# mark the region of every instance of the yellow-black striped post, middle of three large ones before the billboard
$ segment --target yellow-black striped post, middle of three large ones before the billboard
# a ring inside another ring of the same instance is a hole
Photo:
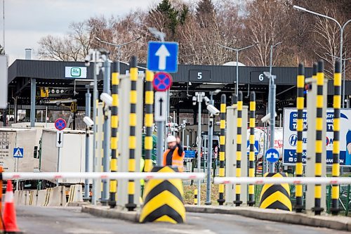
[[[315,65],[313,65],[313,70]],[[317,69],[317,115],[316,115],[316,159],[314,164],[314,176],[322,176],[322,151],[323,143],[322,131],[323,131],[323,86],[324,86],[324,64],[323,61],[319,61]],[[322,198],[322,186],[320,184],[314,185],[314,207],[312,211],[314,214],[319,215],[323,212],[321,207]]]

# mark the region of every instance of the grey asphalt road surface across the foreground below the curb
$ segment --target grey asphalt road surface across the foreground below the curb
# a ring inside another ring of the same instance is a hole
[[[131,223],[118,219],[104,219],[81,213],[79,207],[18,207],[18,226],[27,234],[324,234],[347,233],[327,228],[313,228],[271,221],[261,221],[231,214],[187,213],[186,224]]]

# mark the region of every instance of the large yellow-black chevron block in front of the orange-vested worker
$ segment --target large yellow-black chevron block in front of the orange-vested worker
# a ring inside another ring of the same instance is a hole
[[[154,167],[152,172],[174,172],[173,167]],[[183,183],[180,179],[150,179],[145,186],[145,199],[140,223],[184,223]]]

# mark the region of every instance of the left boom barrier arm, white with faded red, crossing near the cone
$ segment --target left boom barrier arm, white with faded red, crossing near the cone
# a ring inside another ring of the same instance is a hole
[[[90,179],[168,179],[180,178],[182,180],[203,179],[204,173],[168,173],[168,172],[3,172],[4,180],[13,179],[46,179],[59,178],[90,178]]]

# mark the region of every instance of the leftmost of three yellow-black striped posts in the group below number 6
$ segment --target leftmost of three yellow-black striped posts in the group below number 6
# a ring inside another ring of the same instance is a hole
[[[219,176],[225,176],[225,113],[227,112],[227,103],[225,94],[220,96],[220,169]],[[219,185],[219,198],[218,203],[223,205],[225,202],[224,199],[224,184]]]

